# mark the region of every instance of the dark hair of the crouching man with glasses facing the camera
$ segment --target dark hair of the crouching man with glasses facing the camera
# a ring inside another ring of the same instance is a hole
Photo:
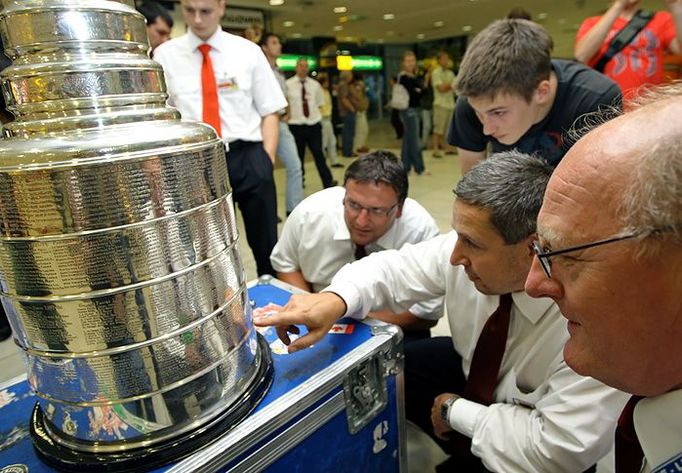
[[[375,184],[382,182],[391,186],[400,205],[407,198],[407,172],[398,157],[390,151],[377,150],[353,161],[343,176],[343,185],[350,179]]]

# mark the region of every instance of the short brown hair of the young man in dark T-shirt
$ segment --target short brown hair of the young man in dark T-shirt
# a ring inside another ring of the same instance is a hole
[[[547,31],[528,20],[497,20],[476,35],[462,58],[457,93],[493,99],[516,94],[530,102],[552,72],[554,44]]]

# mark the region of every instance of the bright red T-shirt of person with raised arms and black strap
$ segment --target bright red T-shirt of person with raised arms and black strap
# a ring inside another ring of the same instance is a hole
[[[576,40],[580,40],[601,17],[587,18],[580,25]],[[606,41],[597,54],[588,61],[594,67],[608,49],[611,39],[628,24],[626,18],[620,17],[611,26]],[[663,55],[675,39],[675,23],[669,12],[657,12],[637,36],[616,54],[604,68],[604,74],[618,83],[623,98],[635,95],[635,89],[643,84],[660,84],[663,82]]]

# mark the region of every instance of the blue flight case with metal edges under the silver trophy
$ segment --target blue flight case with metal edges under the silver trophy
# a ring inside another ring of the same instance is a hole
[[[284,305],[296,292],[269,277],[249,284],[256,310]],[[259,331],[274,365],[263,401],[233,429],[154,473],[407,471],[399,329],[341,319],[320,342],[293,354],[274,328]],[[0,385],[0,473],[56,471],[33,449],[35,402],[25,377]]]

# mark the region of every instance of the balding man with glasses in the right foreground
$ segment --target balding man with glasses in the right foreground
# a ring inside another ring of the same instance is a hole
[[[618,423],[617,473],[680,471],[682,83],[630,107],[557,167],[526,290],[568,319],[569,366],[635,395]]]

